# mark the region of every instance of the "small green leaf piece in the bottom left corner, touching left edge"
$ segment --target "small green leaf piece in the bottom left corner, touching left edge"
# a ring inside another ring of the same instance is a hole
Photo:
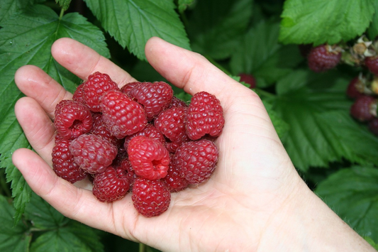
[[[28,226],[23,222],[13,225],[14,209],[0,195],[0,251],[2,252],[21,252],[28,251],[31,235]]]

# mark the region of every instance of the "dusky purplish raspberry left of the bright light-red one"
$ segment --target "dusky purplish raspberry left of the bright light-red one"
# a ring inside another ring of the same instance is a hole
[[[94,135],[75,138],[70,145],[70,151],[74,162],[92,174],[104,172],[117,155],[116,146]]]

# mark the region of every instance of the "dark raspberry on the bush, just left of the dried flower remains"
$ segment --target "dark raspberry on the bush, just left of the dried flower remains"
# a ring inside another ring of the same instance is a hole
[[[308,67],[313,70],[313,72],[326,72],[336,67],[340,59],[340,50],[330,45],[316,46],[312,48],[307,55]]]

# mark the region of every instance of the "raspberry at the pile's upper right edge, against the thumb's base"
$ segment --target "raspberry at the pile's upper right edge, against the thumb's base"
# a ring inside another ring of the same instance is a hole
[[[191,140],[197,140],[206,134],[221,135],[224,125],[221,102],[208,92],[194,94],[187,110],[185,124]]]

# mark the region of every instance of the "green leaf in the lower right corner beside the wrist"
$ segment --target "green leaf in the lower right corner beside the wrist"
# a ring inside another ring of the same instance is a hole
[[[378,169],[353,166],[339,170],[315,190],[362,236],[378,239]]]

